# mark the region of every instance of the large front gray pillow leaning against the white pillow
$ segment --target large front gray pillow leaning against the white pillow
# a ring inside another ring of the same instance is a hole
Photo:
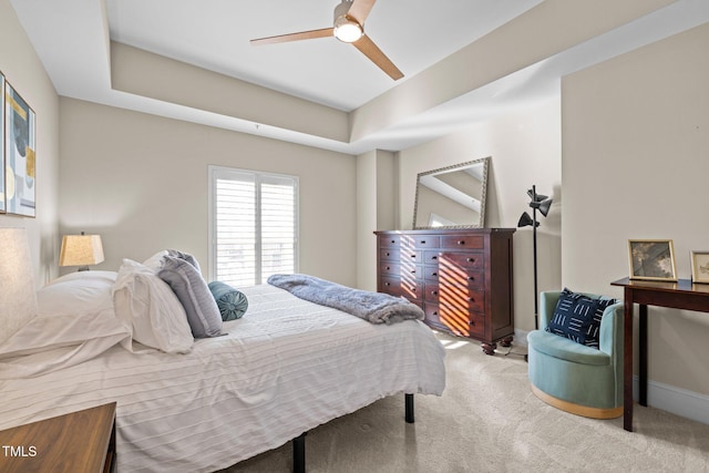
[[[157,276],[169,285],[187,313],[195,338],[222,335],[222,315],[197,268],[184,259],[165,256]]]

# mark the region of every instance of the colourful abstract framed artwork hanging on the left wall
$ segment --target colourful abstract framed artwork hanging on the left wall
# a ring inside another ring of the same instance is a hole
[[[37,216],[35,116],[32,107],[4,81],[4,210]]]

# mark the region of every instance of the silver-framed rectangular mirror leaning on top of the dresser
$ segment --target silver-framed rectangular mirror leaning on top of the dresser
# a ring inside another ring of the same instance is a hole
[[[470,228],[485,225],[490,157],[420,173],[413,228]]]

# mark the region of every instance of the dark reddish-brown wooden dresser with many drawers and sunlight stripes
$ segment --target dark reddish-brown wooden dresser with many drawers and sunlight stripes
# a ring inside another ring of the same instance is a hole
[[[514,335],[514,228],[374,232],[377,290],[403,296],[436,330],[482,342],[493,354]]]

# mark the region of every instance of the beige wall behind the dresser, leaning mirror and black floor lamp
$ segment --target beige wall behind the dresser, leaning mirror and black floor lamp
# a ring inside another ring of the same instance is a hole
[[[458,133],[399,152],[399,229],[413,224],[417,175],[424,171],[491,156],[486,227],[516,227],[536,184],[555,204],[540,217],[537,267],[540,290],[561,284],[561,104],[551,99],[534,106],[469,126]],[[534,329],[534,270],[531,227],[514,234],[515,329]],[[526,343],[525,340],[522,340]]]

